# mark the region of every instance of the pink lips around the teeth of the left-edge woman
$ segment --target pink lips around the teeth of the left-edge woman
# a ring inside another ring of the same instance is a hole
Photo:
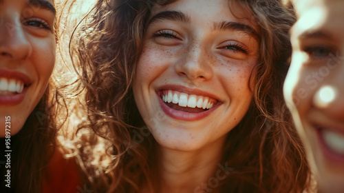
[[[7,69],[0,69],[0,78],[4,77],[7,79],[19,79],[23,81],[25,87],[23,92],[19,94],[8,94],[8,95],[1,95],[0,94],[0,105],[17,105],[23,101],[26,92],[28,91],[28,86],[31,84],[31,79],[28,75],[18,72],[15,70],[7,70]]]

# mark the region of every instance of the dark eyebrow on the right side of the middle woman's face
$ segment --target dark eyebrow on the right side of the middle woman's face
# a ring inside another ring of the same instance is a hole
[[[248,34],[250,37],[254,37],[259,40],[258,32],[252,27],[244,24],[233,21],[222,21],[220,23],[214,23],[213,30],[232,30],[240,31]]]

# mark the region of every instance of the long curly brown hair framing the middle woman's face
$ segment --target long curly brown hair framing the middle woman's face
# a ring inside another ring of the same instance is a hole
[[[131,86],[155,3],[171,1],[98,0],[70,43],[80,77],[76,86],[85,94],[87,111],[71,147],[85,180],[98,192],[139,192],[147,184],[153,192],[150,168],[155,140],[144,128]],[[244,119],[228,133],[222,156],[222,162],[235,170],[219,191],[309,190],[310,170],[282,94],[294,12],[277,0],[235,3],[252,16],[246,19],[257,24],[260,48],[257,72],[251,76],[254,100]]]

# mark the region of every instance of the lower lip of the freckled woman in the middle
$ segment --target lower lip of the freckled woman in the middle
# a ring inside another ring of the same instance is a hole
[[[171,116],[173,119],[179,119],[182,121],[197,121],[200,119],[204,119],[204,117],[208,116],[219,107],[219,103],[217,103],[217,105],[214,105],[213,108],[206,110],[204,112],[184,112],[182,110],[175,110],[173,108],[170,108],[168,105],[164,103],[164,101],[162,101],[161,97],[158,94],[157,96],[162,111],[164,111],[164,113],[166,113],[167,115]]]

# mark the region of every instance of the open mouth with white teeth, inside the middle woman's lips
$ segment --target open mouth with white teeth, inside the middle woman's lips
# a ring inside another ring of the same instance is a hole
[[[218,103],[216,99],[196,94],[186,94],[175,90],[164,90],[160,97],[169,108],[184,112],[204,112]]]

